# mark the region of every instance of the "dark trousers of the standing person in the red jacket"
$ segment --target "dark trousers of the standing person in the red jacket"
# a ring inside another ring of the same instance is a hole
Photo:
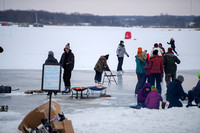
[[[160,85],[160,82],[162,81],[161,74],[152,74],[151,73],[151,75],[150,75],[151,85],[155,86],[155,81],[156,81],[156,88],[157,88],[158,92],[161,94],[161,91],[162,91],[162,88]]]

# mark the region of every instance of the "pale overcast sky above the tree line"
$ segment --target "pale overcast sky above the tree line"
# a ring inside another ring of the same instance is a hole
[[[8,9],[94,15],[200,16],[200,0],[0,0],[0,10]]]

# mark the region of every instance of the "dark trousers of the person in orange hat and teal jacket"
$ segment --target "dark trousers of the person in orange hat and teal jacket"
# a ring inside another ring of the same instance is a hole
[[[135,87],[135,94],[138,93],[138,91],[143,87],[145,82],[145,73],[136,73],[138,82]]]

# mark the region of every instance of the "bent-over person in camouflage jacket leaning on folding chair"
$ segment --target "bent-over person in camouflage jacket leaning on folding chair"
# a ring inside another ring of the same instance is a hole
[[[101,77],[102,77],[102,73],[104,70],[110,70],[107,64],[107,60],[109,58],[109,54],[105,55],[105,56],[101,56],[99,58],[99,60],[97,61],[94,70],[96,72],[95,74],[95,83],[101,84]]]

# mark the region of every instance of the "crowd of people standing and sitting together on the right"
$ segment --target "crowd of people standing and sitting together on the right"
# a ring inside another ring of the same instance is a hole
[[[141,47],[138,48],[137,55],[135,56],[138,79],[135,94],[137,95],[138,104],[135,108],[147,107],[158,109],[160,106],[164,108],[163,105],[165,104],[161,96],[161,82],[164,75],[167,87],[166,100],[169,103],[169,108],[182,107],[183,104],[179,99],[188,99],[187,107],[192,106],[193,100],[195,100],[196,105],[200,106],[200,81],[194,89],[186,94],[182,87],[184,77],[182,75],[176,77],[177,64],[180,64],[181,61],[173,53],[174,51],[178,55],[175,51],[174,42],[173,38],[170,40],[170,43],[167,42],[171,44],[167,52],[165,52],[161,43],[155,43],[150,54],[147,54],[147,50],[143,52]],[[200,73],[198,74],[199,76]]]

